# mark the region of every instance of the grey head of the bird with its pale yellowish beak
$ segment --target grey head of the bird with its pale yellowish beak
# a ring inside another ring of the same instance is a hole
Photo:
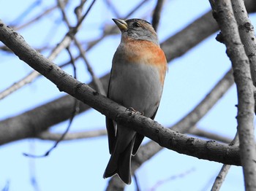
[[[132,39],[146,40],[159,45],[157,33],[148,21],[138,18],[128,20],[113,19],[113,21],[120,29],[122,37],[127,36]]]

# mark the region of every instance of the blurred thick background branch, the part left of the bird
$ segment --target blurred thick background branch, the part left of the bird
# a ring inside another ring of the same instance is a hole
[[[101,78],[102,83],[107,90],[109,74]],[[94,88],[93,83],[89,84]],[[35,109],[18,114],[0,122],[0,145],[7,144],[10,141],[27,139],[35,137],[44,130],[48,130],[50,126],[58,124],[71,117],[70,111],[74,105],[74,98],[71,95],[66,95],[48,104],[37,106]],[[90,106],[80,102],[80,112],[91,109]],[[32,120],[31,120],[32,119]]]

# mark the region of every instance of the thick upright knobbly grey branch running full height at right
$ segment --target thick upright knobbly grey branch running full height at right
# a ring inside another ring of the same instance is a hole
[[[255,100],[249,59],[239,36],[231,1],[215,1],[213,9],[216,9],[214,11],[222,32],[222,39],[227,47],[227,55],[232,61],[238,91],[238,135],[245,187],[246,190],[256,190],[256,150],[253,124]]]

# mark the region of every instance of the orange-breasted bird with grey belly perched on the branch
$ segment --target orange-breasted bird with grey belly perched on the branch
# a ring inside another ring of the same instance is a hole
[[[121,42],[113,55],[108,98],[154,120],[162,97],[167,71],[165,53],[153,26],[146,20],[113,19]],[[103,178],[118,174],[131,184],[131,157],[144,136],[106,117],[110,160]]]

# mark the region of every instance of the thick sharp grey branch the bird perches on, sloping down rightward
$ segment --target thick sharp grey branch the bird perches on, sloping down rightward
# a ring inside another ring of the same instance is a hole
[[[56,66],[40,55],[39,52],[32,49],[22,36],[8,28],[1,21],[0,40],[15,52],[15,55],[18,55],[20,59],[56,84],[59,90],[69,93],[124,126],[132,126],[138,133],[156,141],[162,147],[220,163],[240,164],[238,147],[230,147],[226,144],[219,144],[216,141],[204,141],[184,136],[181,133],[162,127],[162,125],[147,117],[127,111],[124,106],[116,104],[91,89],[88,85],[70,77],[59,66]]]

